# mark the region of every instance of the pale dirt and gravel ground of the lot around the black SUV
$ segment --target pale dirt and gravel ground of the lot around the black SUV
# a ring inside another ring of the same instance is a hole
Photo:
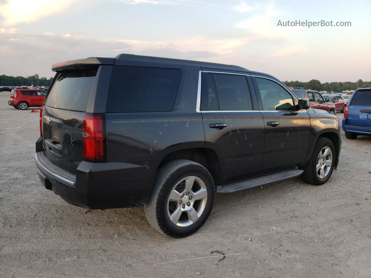
[[[295,178],[217,195],[196,234],[170,239],[142,208],[87,211],[43,188],[39,113],[8,97],[0,93],[0,278],[371,277],[371,137],[342,131],[325,185]]]

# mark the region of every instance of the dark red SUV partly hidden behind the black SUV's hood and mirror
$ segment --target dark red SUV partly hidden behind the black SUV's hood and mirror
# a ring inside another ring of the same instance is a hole
[[[291,89],[299,98],[309,102],[309,107],[314,109],[326,110],[330,114],[336,114],[336,106],[324,98],[319,92],[313,90]],[[340,111],[340,110],[339,110]]]

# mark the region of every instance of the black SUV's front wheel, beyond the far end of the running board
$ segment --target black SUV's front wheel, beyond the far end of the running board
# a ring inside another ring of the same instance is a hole
[[[320,137],[314,147],[308,165],[301,167],[301,179],[312,185],[322,185],[329,180],[334,171],[335,147],[328,138]]]

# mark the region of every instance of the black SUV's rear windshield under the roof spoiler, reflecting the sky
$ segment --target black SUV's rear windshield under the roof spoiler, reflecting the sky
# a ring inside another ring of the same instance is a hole
[[[60,72],[47,96],[50,107],[86,112],[98,67]]]

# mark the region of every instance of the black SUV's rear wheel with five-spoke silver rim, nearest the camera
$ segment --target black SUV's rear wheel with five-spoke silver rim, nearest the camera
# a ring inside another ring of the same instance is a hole
[[[214,196],[214,181],[204,166],[191,160],[173,160],[157,171],[145,216],[161,234],[188,236],[206,222]]]

